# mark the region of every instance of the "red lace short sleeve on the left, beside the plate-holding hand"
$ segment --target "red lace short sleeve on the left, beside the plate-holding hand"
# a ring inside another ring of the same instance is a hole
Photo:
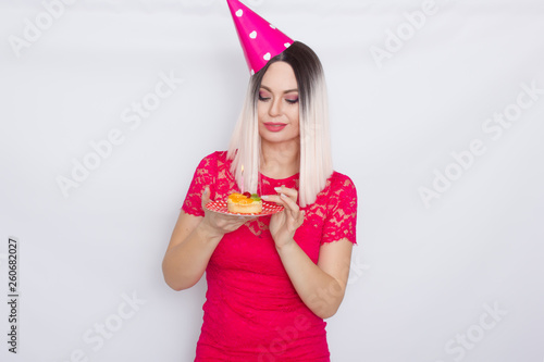
[[[207,155],[200,161],[193,176],[193,182],[190,183],[185,201],[183,202],[182,210],[184,212],[195,216],[205,215],[202,210],[202,192],[206,186],[210,186],[210,194],[213,195],[217,165],[218,160],[215,153]]]

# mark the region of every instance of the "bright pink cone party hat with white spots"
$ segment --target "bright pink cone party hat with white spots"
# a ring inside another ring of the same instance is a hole
[[[293,39],[238,0],[226,0],[226,2],[251,75],[293,43]]]

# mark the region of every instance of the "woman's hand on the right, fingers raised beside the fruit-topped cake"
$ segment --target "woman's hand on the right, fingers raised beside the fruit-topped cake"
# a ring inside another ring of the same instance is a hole
[[[281,248],[294,242],[295,232],[305,221],[305,212],[297,204],[298,191],[296,189],[282,186],[274,190],[277,195],[265,195],[261,198],[284,207],[283,211],[272,215],[269,226],[276,248]]]

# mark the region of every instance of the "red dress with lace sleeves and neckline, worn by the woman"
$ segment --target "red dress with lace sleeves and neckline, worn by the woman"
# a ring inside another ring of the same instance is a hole
[[[201,195],[226,199],[239,191],[226,152],[214,152],[198,165],[182,210],[203,216]],[[298,174],[284,179],[260,175],[259,194],[274,187],[298,189]],[[307,207],[295,240],[314,262],[323,242],[356,242],[357,194],[349,177],[334,172],[317,201]],[[219,242],[206,269],[208,291],[195,361],[330,361],[326,323],[298,297],[275,250],[271,216],[246,223]]]

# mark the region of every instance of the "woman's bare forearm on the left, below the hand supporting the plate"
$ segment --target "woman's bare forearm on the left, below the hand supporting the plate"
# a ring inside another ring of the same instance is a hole
[[[200,222],[183,242],[166,251],[162,262],[166,284],[174,290],[197,284],[221,238]]]

